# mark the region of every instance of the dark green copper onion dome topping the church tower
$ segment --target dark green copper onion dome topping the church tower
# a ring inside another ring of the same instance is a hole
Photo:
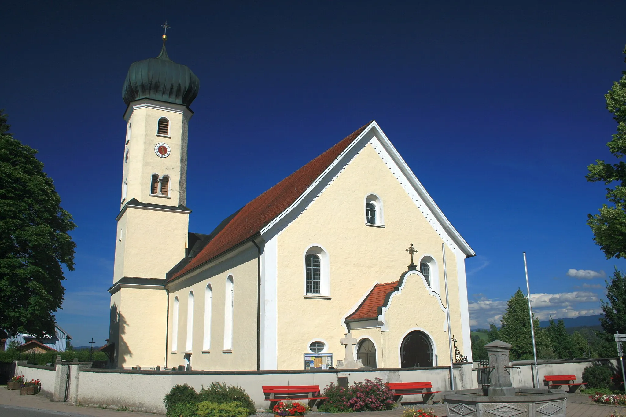
[[[190,106],[198,95],[198,89],[198,77],[188,66],[172,61],[163,42],[161,53],[156,58],[131,64],[121,94],[126,106],[144,98]]]

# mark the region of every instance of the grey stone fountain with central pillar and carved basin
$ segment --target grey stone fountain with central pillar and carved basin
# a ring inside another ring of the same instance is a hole
[[[560,389],[514,388],[509,351],[501,340],[485,344],[489,355],[491,386],[459,389],[443,396],[448,417],[565,417],[567,394]]]

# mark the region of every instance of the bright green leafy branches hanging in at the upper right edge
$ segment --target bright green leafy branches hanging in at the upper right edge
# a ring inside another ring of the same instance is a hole
[[[623,53],[626,54],[626,48]],[[624,59],[626,62],[626,59]],[[613,82],[613,87],[605,94],[607,109],[613,113],[613,120],[617,121],[617,133],[607,143],[608,149],[615,158],[622,158],[626,154],[626,71],[622,71],[622,78]],[[603,204],[600,214],[588,214],[587,224],[593,231],[595,243],[609,258],[626,257],[626,164],[619,161],[617,164],[608,164],[599,159],[587,167],[587,181],[603,181],[610,184],[617,181],[615,188],[607,188],[607,200],[611,206]]]

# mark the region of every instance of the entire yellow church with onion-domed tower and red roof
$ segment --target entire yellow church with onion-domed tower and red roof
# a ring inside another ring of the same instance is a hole
[[[376,121],[337,132],[213,231],[188,231],[200,82],[165,39],[123,86],[112,366],[328,369],[352,353],[356,367],[449,366],[449,333],[455,361],[471,361],[465,258],[475,253]]]

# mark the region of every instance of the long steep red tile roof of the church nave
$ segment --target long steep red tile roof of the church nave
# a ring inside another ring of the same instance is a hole
[[[246,204],[195,258],[173,274],[168,281],[178,278],[258,234],[262,228],[293,204],[370,123],[361,126],[331,149]]]

